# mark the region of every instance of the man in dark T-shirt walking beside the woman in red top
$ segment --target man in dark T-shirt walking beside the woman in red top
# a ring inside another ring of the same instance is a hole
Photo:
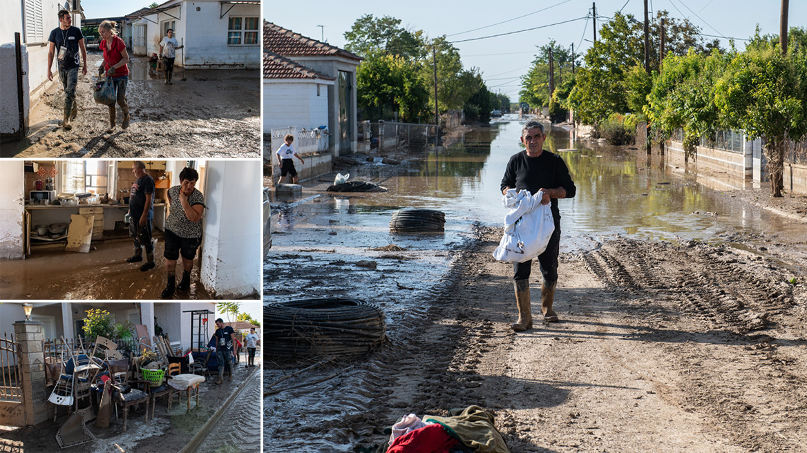
[[[82,67],[82,75],[87,75],[87,48],[84,44],[82,29],[73,27],[73,18],[66,10],[59,11],[59,27],[54,28],[48,37],[48,81],[53,80],[53,56],[57,55],[59,79],[65,89],[65,110],[61,127],[66,131],[73,128],[70,123],[78,114],[76,101],[76,85],[78,85],[78,67]],[[82,51],[79,59],[78,51]]]

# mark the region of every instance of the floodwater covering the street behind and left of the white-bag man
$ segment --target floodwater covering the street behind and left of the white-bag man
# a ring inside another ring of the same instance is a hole
[[[500,181],[510,156],[523,149],[522,124],[512,118],[468,131],[460,143],[410,163],[403,174],[389,176],[385,166],[373,164],[351,170],[351,181],[383,185],[386,193],[328,193],[328,183],[315,179],[303,181],[302,197],[273,200],[264,301],[356,297],[374,302],[387,316],[391,346],[370,359],[327,364],[294,380],[311,385],[283,389],[291,385],[286,381],[270,393],[265,388],[265,451],[351,451],[377,422],[370,409],[374,401],[379,404],[378,395],[400,391],[389,364],[411,365],[408,347],[441,347],[441,339],[418,338],[419,328],[433,322],[430,310],[458,279],[462,251],[474,243],[479,226],[503,225],[507,210]],[[763,256],[787,256],[792,267],[807,262],[807,226],[721,193],[745,182],[684,172],[668,165],[658,150],[648,159],[643,150],[574,141],[569,135],[554,129],[545,144],[567,162],[577,185],[575,198],[558,202],[562,254],[590,251],[625,236],[725,243]],[[392,213],[405,207],[443,211],[445,233],[391,234]],[[479,278],[494,284],[490,276]],[[435,322],[454,331],[450,319]],[[299,366],[270,362],[266,385]],[[422,367],[441,372],[433,364]],[[400,415],[410,409],[391,408]]]

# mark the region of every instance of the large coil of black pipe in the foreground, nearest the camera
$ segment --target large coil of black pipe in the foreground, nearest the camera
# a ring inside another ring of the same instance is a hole
[[[364,355],[387,339],[378,305],[359,299],[303,299],[264,306],[264,342],[271,357],[345,358]]]

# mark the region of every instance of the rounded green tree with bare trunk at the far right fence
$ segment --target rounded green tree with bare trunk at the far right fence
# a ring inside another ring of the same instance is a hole
[[[807,133],[807,58],[781,56],[776,48],[751,50],[731,60],[715,87],[723,122],[765,140],[768,177],[774,197],[782,196],[787,139]]]

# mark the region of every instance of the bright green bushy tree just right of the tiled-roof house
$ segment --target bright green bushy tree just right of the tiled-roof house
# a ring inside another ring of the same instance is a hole
[[[429,92],[419,76],[420,64],[386,52],[370,52],[356,72],[358,106],[367,118],[414,122],[427,114]]]

